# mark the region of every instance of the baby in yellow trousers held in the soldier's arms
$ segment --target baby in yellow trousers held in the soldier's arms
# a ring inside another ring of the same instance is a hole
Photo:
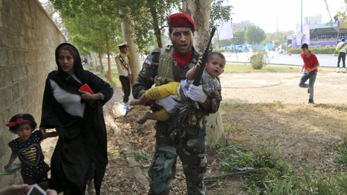
[[[130,105],[144,105],[148,101],[155,99],[162,99],[169,95],[178,95],[180,97],[180,101],[187,101],[187,91],[189,89],[189,85],[192,84],[194,79],[194,74],[198,70],[201,61],[199,61],[196,66],[192,69],[189,69],[186,74],[186,80],[181,80],[180,82],[171,82],[165,85],[160,85],[158,87],[153,87],[147,90],[144,95],[140,99],[134,99],[130,101]],[[221,90],[221,83],[219,82],[218,76],[221,75],[224,71],[224,67],[226,66],[226,58],[222,53],[212,52],[208,56],[208,62],[205,66],[205,71],[203,72],[203,76],[201,77],[201,85],[203,85],[203,91],[208,97],[221,99],[221,95],[219,91]],[[166,121],[169,119],[171,115],[162,108],[157,112],[146,112],[146,114],[141,117],[137,123],[144,124],[146,120],[153,119],[159,121]]]

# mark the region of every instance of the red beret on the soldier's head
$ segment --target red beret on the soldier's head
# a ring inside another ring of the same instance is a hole
[[[174,13],[167,17],[169,19],[169,27],[187,27],[192,28],[192,31],[196,31],[196,26],[192,17],[186,13]]]

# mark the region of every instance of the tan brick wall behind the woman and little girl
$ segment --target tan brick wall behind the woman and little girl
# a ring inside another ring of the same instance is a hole
[[[54,51],[65,42],[38,0],[0,0],[0,170],[10,159],[8,142],[17,135],[5,124],[31,113],[40,124],[44,81],[56,69]],[[0,188],[22,183],[20,173],[0,176]]]

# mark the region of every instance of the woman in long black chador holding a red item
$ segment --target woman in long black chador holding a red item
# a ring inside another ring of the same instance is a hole
[[[58,71],[51,71],[46,79],[40,124],[42,130],[56,128],[59,135],[51,158],[49,187],[65,195],[85,194],[92,170],[96,194],[100,194],[108,163],[102,107],[113,90],[83,70],[78,50],[71,44],[57,47],[56,63]],[[85,83],[92,92],[80,90]]]

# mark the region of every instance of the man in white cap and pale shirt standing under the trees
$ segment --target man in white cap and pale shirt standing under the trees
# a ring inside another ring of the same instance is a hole
[[[123,101],[125,103],[128,103],[129,96],[130,96],[130,81],[131,81],[131,70],[129,66],[129,60],[128,60],[128,45],[125,43],[119,44],[119,53],[115,60],[116,65],[119,73],[119,80],[121,81],[121,88],[123,90]]]

